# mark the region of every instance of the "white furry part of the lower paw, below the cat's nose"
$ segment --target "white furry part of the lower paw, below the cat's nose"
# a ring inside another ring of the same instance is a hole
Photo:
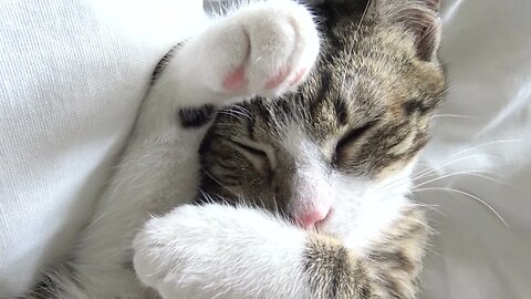
[[[256,291],[264,274],[273,280],[273,274],[283,275],[285,281],[295,276],[303,245],[303,231],[263,212],[185,205],[144,226],[133,243],[133,262],[138,278],[163,298],[212,298],[227,291],[233,295],[227,298],[249,298],[241,286]]]

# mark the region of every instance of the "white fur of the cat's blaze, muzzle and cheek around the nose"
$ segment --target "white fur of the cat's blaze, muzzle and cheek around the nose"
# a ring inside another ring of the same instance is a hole
[[[331,205],[326,219],[319,230],[337,236],[358,254],[381,239],[393,221],[412,205],[405,196],[410,189],[414,163],[384,181],[353,178],[323,165],[320,147],[296,124],[282,130],[282,145],[296,157],[295,189],[292,202],[295,210]]]

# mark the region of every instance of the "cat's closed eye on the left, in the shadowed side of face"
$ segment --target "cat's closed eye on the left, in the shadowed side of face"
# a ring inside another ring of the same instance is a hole
[[[274,157],[266,145],[242,140],[229,140],[236,151],[243,155],[252,166],[263,176],[271,173]]]

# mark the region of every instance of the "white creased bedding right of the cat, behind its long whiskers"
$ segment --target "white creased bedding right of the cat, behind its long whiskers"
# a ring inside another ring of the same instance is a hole
[[[450,91],[424,162],[448,177],[416,194],[437,205],[421,298],[530,298],[531,1],[441,3]]]

